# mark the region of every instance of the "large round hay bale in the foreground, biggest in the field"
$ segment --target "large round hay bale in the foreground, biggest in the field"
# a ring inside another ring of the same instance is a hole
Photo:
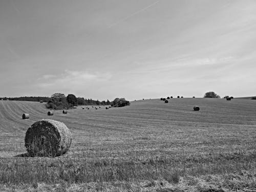
[[[64,123],[42,119],[27,130],[25,146],[31,157],[56,157],[69,150],[71,140],[71,132]]]

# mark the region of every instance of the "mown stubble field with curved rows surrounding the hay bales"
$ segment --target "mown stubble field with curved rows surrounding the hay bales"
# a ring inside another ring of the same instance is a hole
[[[0,101],[0,191],[256,190],[255,100],[148,99],[53,116],[44,104]],[[69,152],[22,157],[28,127],[47,118],[70,128]]]

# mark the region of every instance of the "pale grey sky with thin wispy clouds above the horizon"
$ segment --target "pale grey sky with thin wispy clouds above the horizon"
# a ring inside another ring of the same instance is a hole
[[[254,0],[0,0],[0,97],[242,97],[255,82]]]

